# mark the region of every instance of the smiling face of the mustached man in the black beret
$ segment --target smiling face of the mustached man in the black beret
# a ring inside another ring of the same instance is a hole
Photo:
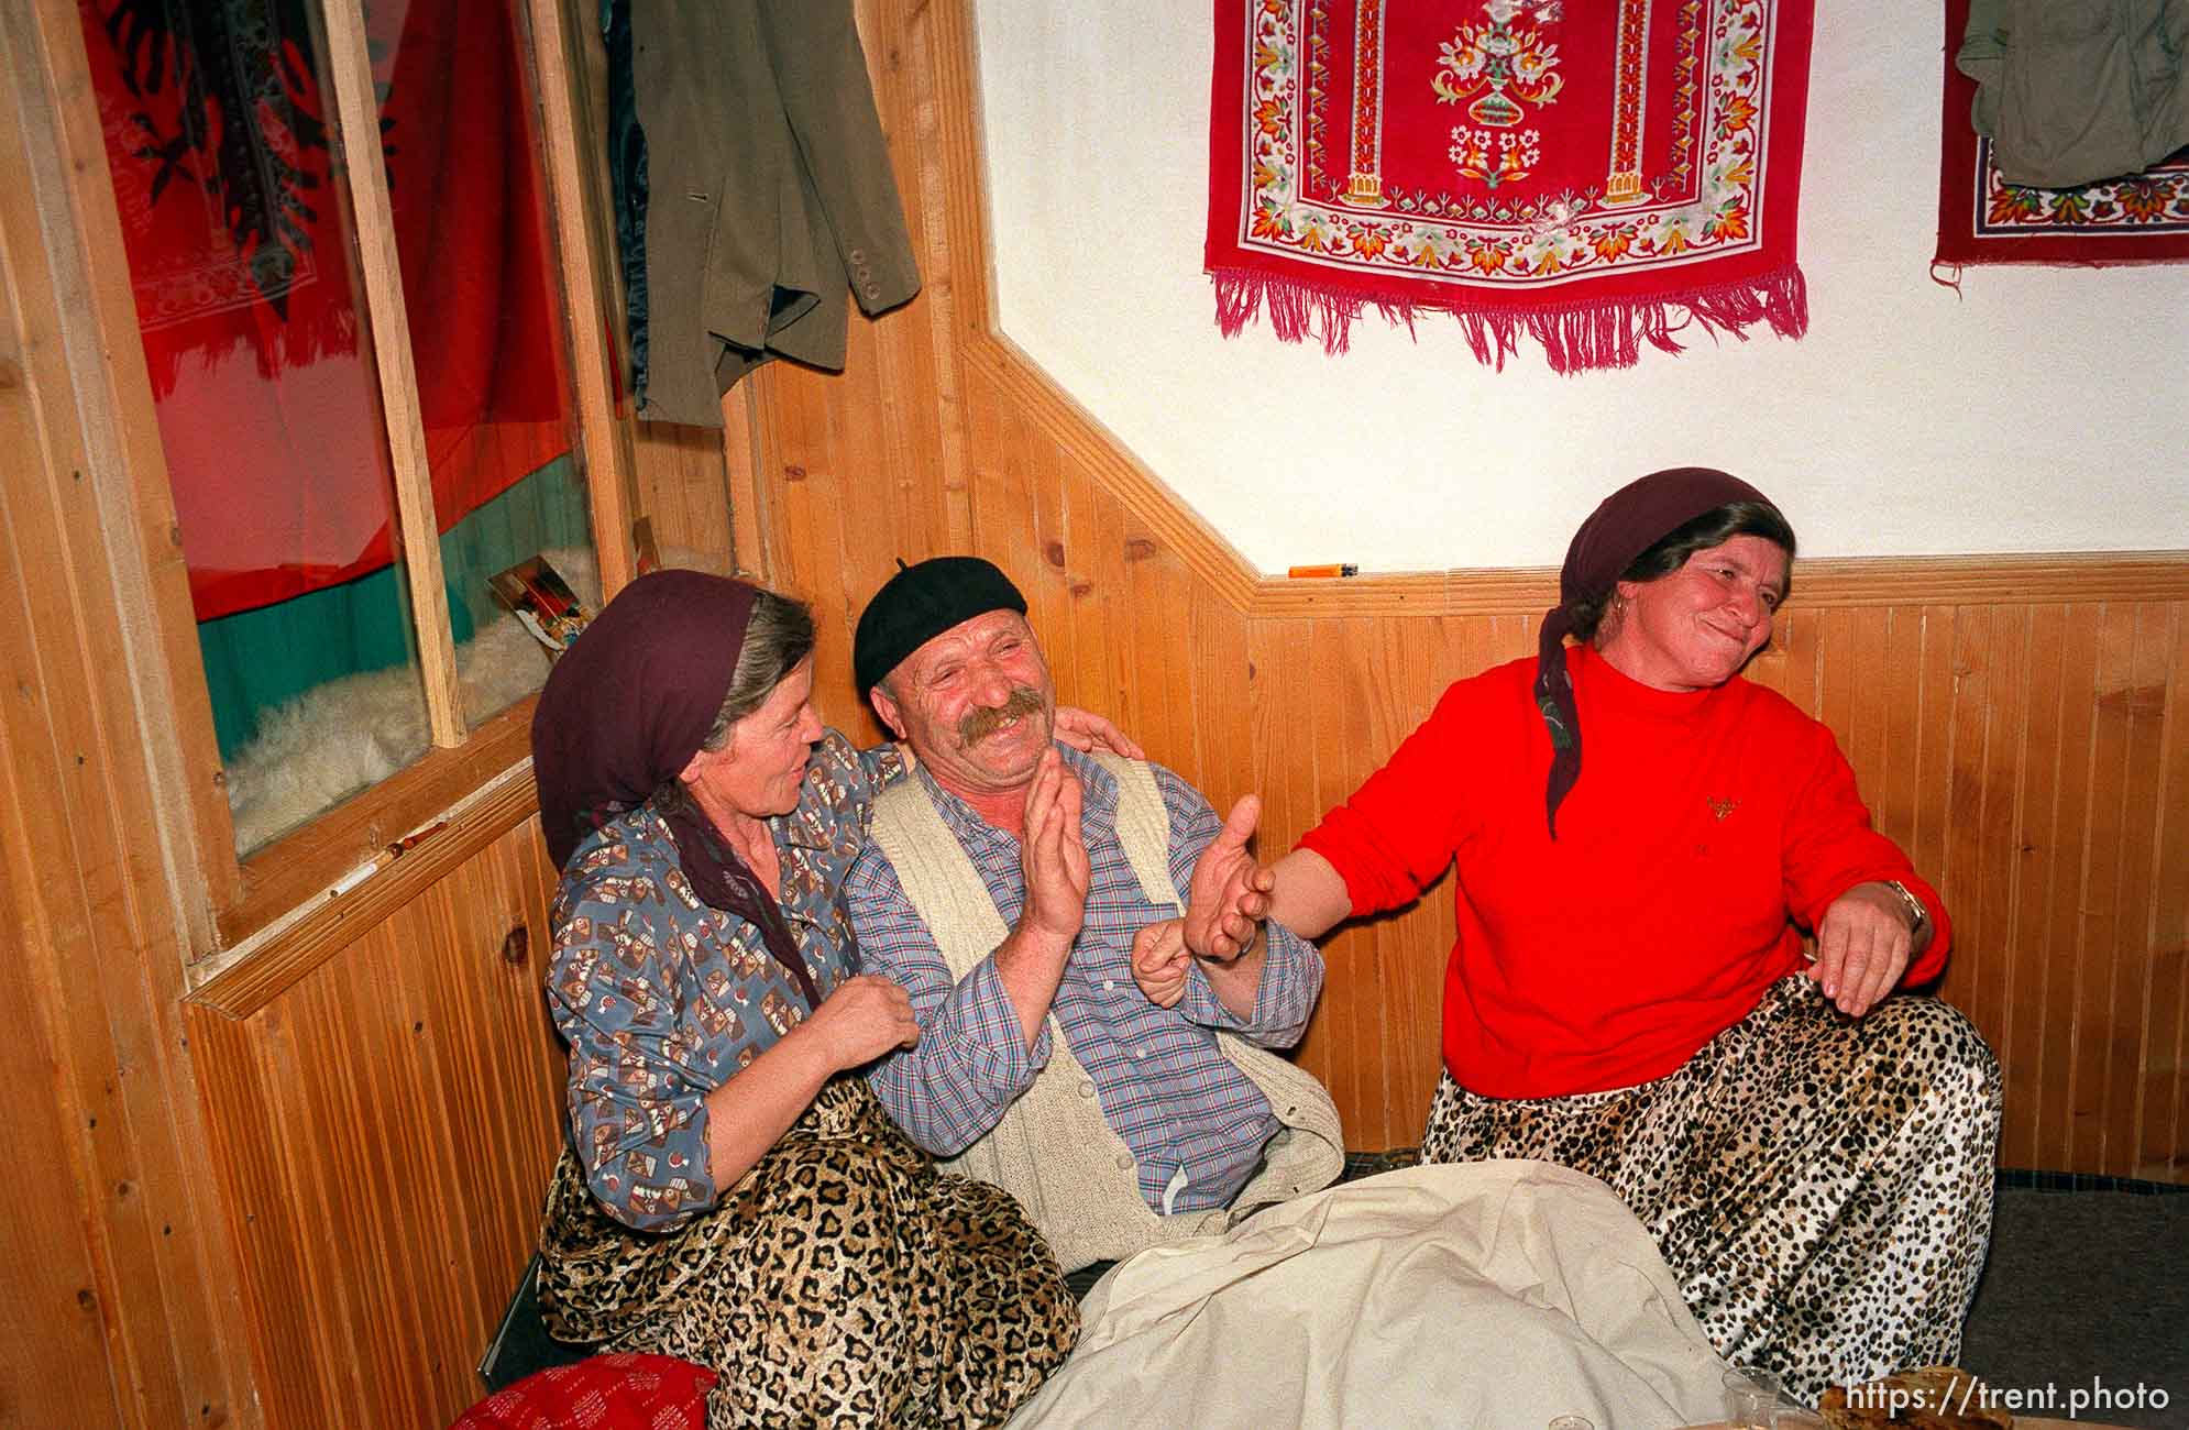
[[[1018,611],[987,611],[919,646],[873,688],[882,723],[954,795],[1000,795],[1033,780],[1057,688]]]

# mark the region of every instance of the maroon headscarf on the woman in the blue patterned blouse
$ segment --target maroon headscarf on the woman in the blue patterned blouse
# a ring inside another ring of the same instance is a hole
[[[705,572],[652,572],[611,600],[547,674],[532,712],[532,777],[556,867],[606,819],[646,804],[698,753],[744,648],[757,591]],[[690,797],[663,810],[692,891],[760,929],[819,1007],[781,904]]]

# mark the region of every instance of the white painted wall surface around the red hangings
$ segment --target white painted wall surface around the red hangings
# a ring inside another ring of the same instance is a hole
[[[1819,0],[1810,328],[1499,374],[1432,315],[1353,350],[1215,328],[1208,0],[978,0],[1005,335],[1265,572],[1556,565],[1613,486],[1699,462],[1804,554],[2189,547],[2189,265],[1929,276],[1937,13]]]

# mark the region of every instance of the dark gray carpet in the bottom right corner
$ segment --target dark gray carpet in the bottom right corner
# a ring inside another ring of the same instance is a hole
[[[2189,1187],[1999,1183],[1961,1364],[2029,1415],[2189,1430]]]

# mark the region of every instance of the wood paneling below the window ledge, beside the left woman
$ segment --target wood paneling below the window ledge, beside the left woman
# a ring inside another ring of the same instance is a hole
[[[479,1397],[563,1148],[528,808],[300,981],[188,1005],[269,1426],[442,1426]]]

